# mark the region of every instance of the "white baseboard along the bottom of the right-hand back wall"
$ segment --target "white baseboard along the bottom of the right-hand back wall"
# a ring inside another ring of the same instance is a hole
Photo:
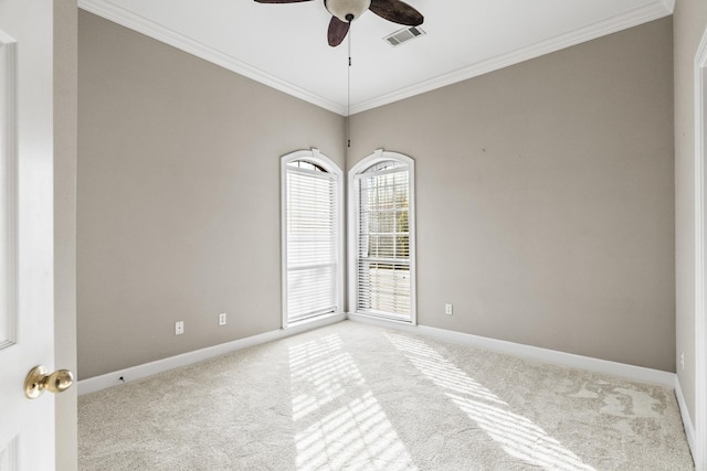
[[[349,313],[348,319],[355,322],[368,323],[389,329],[398,329],[418,335],[439,339],[444,342],[478,346],[482,349],[492,350],[494,352],[523,356],[545,363],[553,363],[572,368],[588,370],[592,372],[621,376],[641,383],[658,384],[662,386],[668,386],[671,388],[675,387],[675,373],[663,372],[659,370],[626,365],[624,363],[592,358],[590,356],[558,352],[556,350],[549,349],[540,349],[538,346],[531,345],[523,345],[519,343],[489,339],[486,336],[473,335],[468,333],[454,332],[444,329],[430,328],[425,325],[410,325],[403,322],[390,322],[380,319],[372,319],[370,317],[360,314]]]

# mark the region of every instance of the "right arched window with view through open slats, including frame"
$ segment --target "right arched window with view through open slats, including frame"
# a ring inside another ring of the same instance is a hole
[[[349,311],[416,322],[414,161],[377,150],[349,171]]]

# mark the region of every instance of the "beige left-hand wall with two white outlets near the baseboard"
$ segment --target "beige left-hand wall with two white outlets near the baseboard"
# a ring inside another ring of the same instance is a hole
[[[78,35],[80,378],[278,329],[279,157],[344,168],[344,118],[84,11]]]

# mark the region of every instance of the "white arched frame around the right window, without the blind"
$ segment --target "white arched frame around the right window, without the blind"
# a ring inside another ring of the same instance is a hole
[[[410,319],[401,319],[397,315],[386,315],[370,312],[358,312],[358,253],[359,253],[359,188],[356,184],[357,175],[365,174],[366,170],[386,161],[398,161],[408,168],[408,184],[410,191],[409,227],[410,227]],[[383,149],[376,150],[354,165],[348,173],[348,301],[349,314],[365,315],[376,319],[384,319],[418,324],[416,309],[416,263],[415,263],[415,162],[412,158]]]

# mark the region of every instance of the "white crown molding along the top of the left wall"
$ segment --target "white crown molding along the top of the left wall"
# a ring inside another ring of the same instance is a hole
[[[175,46],[181,51],[188,52],[189,54],[196,55],[197,57],[201,57],[204,61],[220,65],[221,67],[235,72],[244,77],[252,78],[261,84],[267,85],[268,87],[275,88],[276,90],[284,92],[296,98],[303,99],[324,109],[328,109],[329,111],[346,116],[347,107],[344,105],[314,94],[305,88],[291,84],[289,82],[285,82],[274,75],[267,74],[250,64],[246,64],[245,62],[224,54],[221,51],[186,36],[172,29],[166,28],[159,23],[148,20],[147,18],[118,7],[108,0],[78,0],[78,7],[82,10],[97,14],[98,17],[150,36],[165,44]]]

